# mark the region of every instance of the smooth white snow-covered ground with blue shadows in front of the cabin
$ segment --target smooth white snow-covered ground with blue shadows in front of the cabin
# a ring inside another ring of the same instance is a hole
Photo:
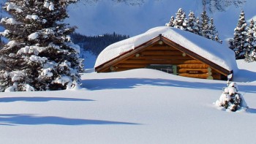
[[[153,69],[86,73],[76,91],[0,93],[0,143],[255,143],[256,63],[238,67],[246,112],[213,105],[225,81]]]

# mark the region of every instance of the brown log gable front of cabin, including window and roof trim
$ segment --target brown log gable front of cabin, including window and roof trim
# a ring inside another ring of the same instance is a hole
[[[120,72],[129,69],[151,68],[184,77],[225,80],[230,71],[193,53],[170,39],[155,37],[96,67],[97,72]]]

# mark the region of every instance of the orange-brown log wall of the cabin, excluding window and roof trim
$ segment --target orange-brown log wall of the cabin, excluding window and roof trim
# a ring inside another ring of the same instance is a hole
[[[138,69],[148,67],[150,64],[171,64],[177,66],[177,73],[184,77],[197,77],[220,80],[220,74],[214,69],[210,69],[206,64],[196,60],[187,54],[182,53],[176,48],[172,48],[170,45],[153,45],[144,50],[135,53],[135,55],[129,56],[120,63],[113,65],[109,69],[105,69],[105,72],[119,72],[128,69]]]

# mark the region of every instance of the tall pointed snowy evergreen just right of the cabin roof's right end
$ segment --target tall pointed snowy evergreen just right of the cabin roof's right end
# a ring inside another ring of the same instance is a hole
[[[236,59],[241,59],[245,57],[246,47],[246,20],[244,18],[244,11],[241,11],[236,29],[234,29],[234,37],[230,39],[230,49],[234,50],[236,53]]]

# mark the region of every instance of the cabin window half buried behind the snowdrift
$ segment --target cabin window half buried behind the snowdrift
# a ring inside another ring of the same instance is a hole
[[[167,72],[169,74],[177,75],[177,66],[171,64],[150,64],[148,69],[157,69],[162,72]]]

